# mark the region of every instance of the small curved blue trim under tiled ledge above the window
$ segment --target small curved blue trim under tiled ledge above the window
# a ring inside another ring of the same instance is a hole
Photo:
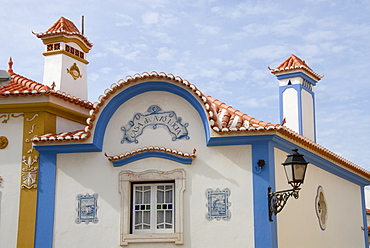
[[[127,157],[121,160],[112,161],[112,163],[114,167],[119,167],[119,166],[131,163],[131,162],[134,162],[140,159],[150,158],[150,157],[168,159],[168,160],[172,160],[172,161],[182,163],[182,164],[192,164],[193,163],[192,157],[185,158],[185,157],[180,157],[174,154],[158,152],[158,151],[147,151],[147,152],[138,153],[138,154],[132,155],[130,157]]]

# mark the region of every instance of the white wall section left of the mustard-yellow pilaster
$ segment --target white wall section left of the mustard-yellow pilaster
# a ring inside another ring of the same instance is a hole
[[[3,114],[0,114],[0,116]],[[8,115],[8,114],[6,114]],[[16,114],[17,116],[19,113]],[[0,247],[16,247],[22,158],[23,117],[0,118],[0,136],[8,146],[0,149]]]

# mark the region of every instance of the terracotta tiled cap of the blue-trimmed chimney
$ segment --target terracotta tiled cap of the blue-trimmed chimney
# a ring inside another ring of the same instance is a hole
[[[320,76],[316,72],[314,72],[304,60],[301,60],[294,54],[290,55],[289,58],[287,58],[283,63],[281,63],[278,67],[275,69],[271,69],[269,67],[269,70],[271,71],[272,74],[277,74],[279,72],[289,72],[293,70],[304,70],[306,71],[310,76],[312,76],[315,80],[319,81],[322,79],[324,76]]]

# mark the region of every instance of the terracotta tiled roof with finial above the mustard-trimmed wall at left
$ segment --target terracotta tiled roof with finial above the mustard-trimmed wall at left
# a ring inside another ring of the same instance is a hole
[[[12,80],[8,85],[0,87],[0,97],[53,95],[87,109],[93,109],[93,104],[87,100],[71,96],[61,91],[54,91],[47,85],[14,73],[12,58],[10,58],[8,64],[8,73],[12,77]]]

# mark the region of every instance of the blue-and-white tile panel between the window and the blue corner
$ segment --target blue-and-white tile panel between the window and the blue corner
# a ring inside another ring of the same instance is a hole
[[[231,203],[229,202],[230,189],[207,189],[207,220],[229,220],[231,218],[231,213],[229,207]]]

